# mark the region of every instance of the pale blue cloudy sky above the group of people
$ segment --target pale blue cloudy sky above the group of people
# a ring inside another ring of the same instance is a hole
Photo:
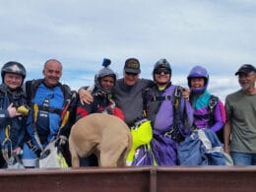
[[[256,63],[255,0],[0,0],[0,66],[18,61],[27,80],[41,78],[47,59],[63,65],[62,83],[94,84],[103,58],[122,78],[129,57],[152,79],[165,58],[171,81],[187,87],[192,67],[210,75],[209,92],[240,89],[234,73]]]

